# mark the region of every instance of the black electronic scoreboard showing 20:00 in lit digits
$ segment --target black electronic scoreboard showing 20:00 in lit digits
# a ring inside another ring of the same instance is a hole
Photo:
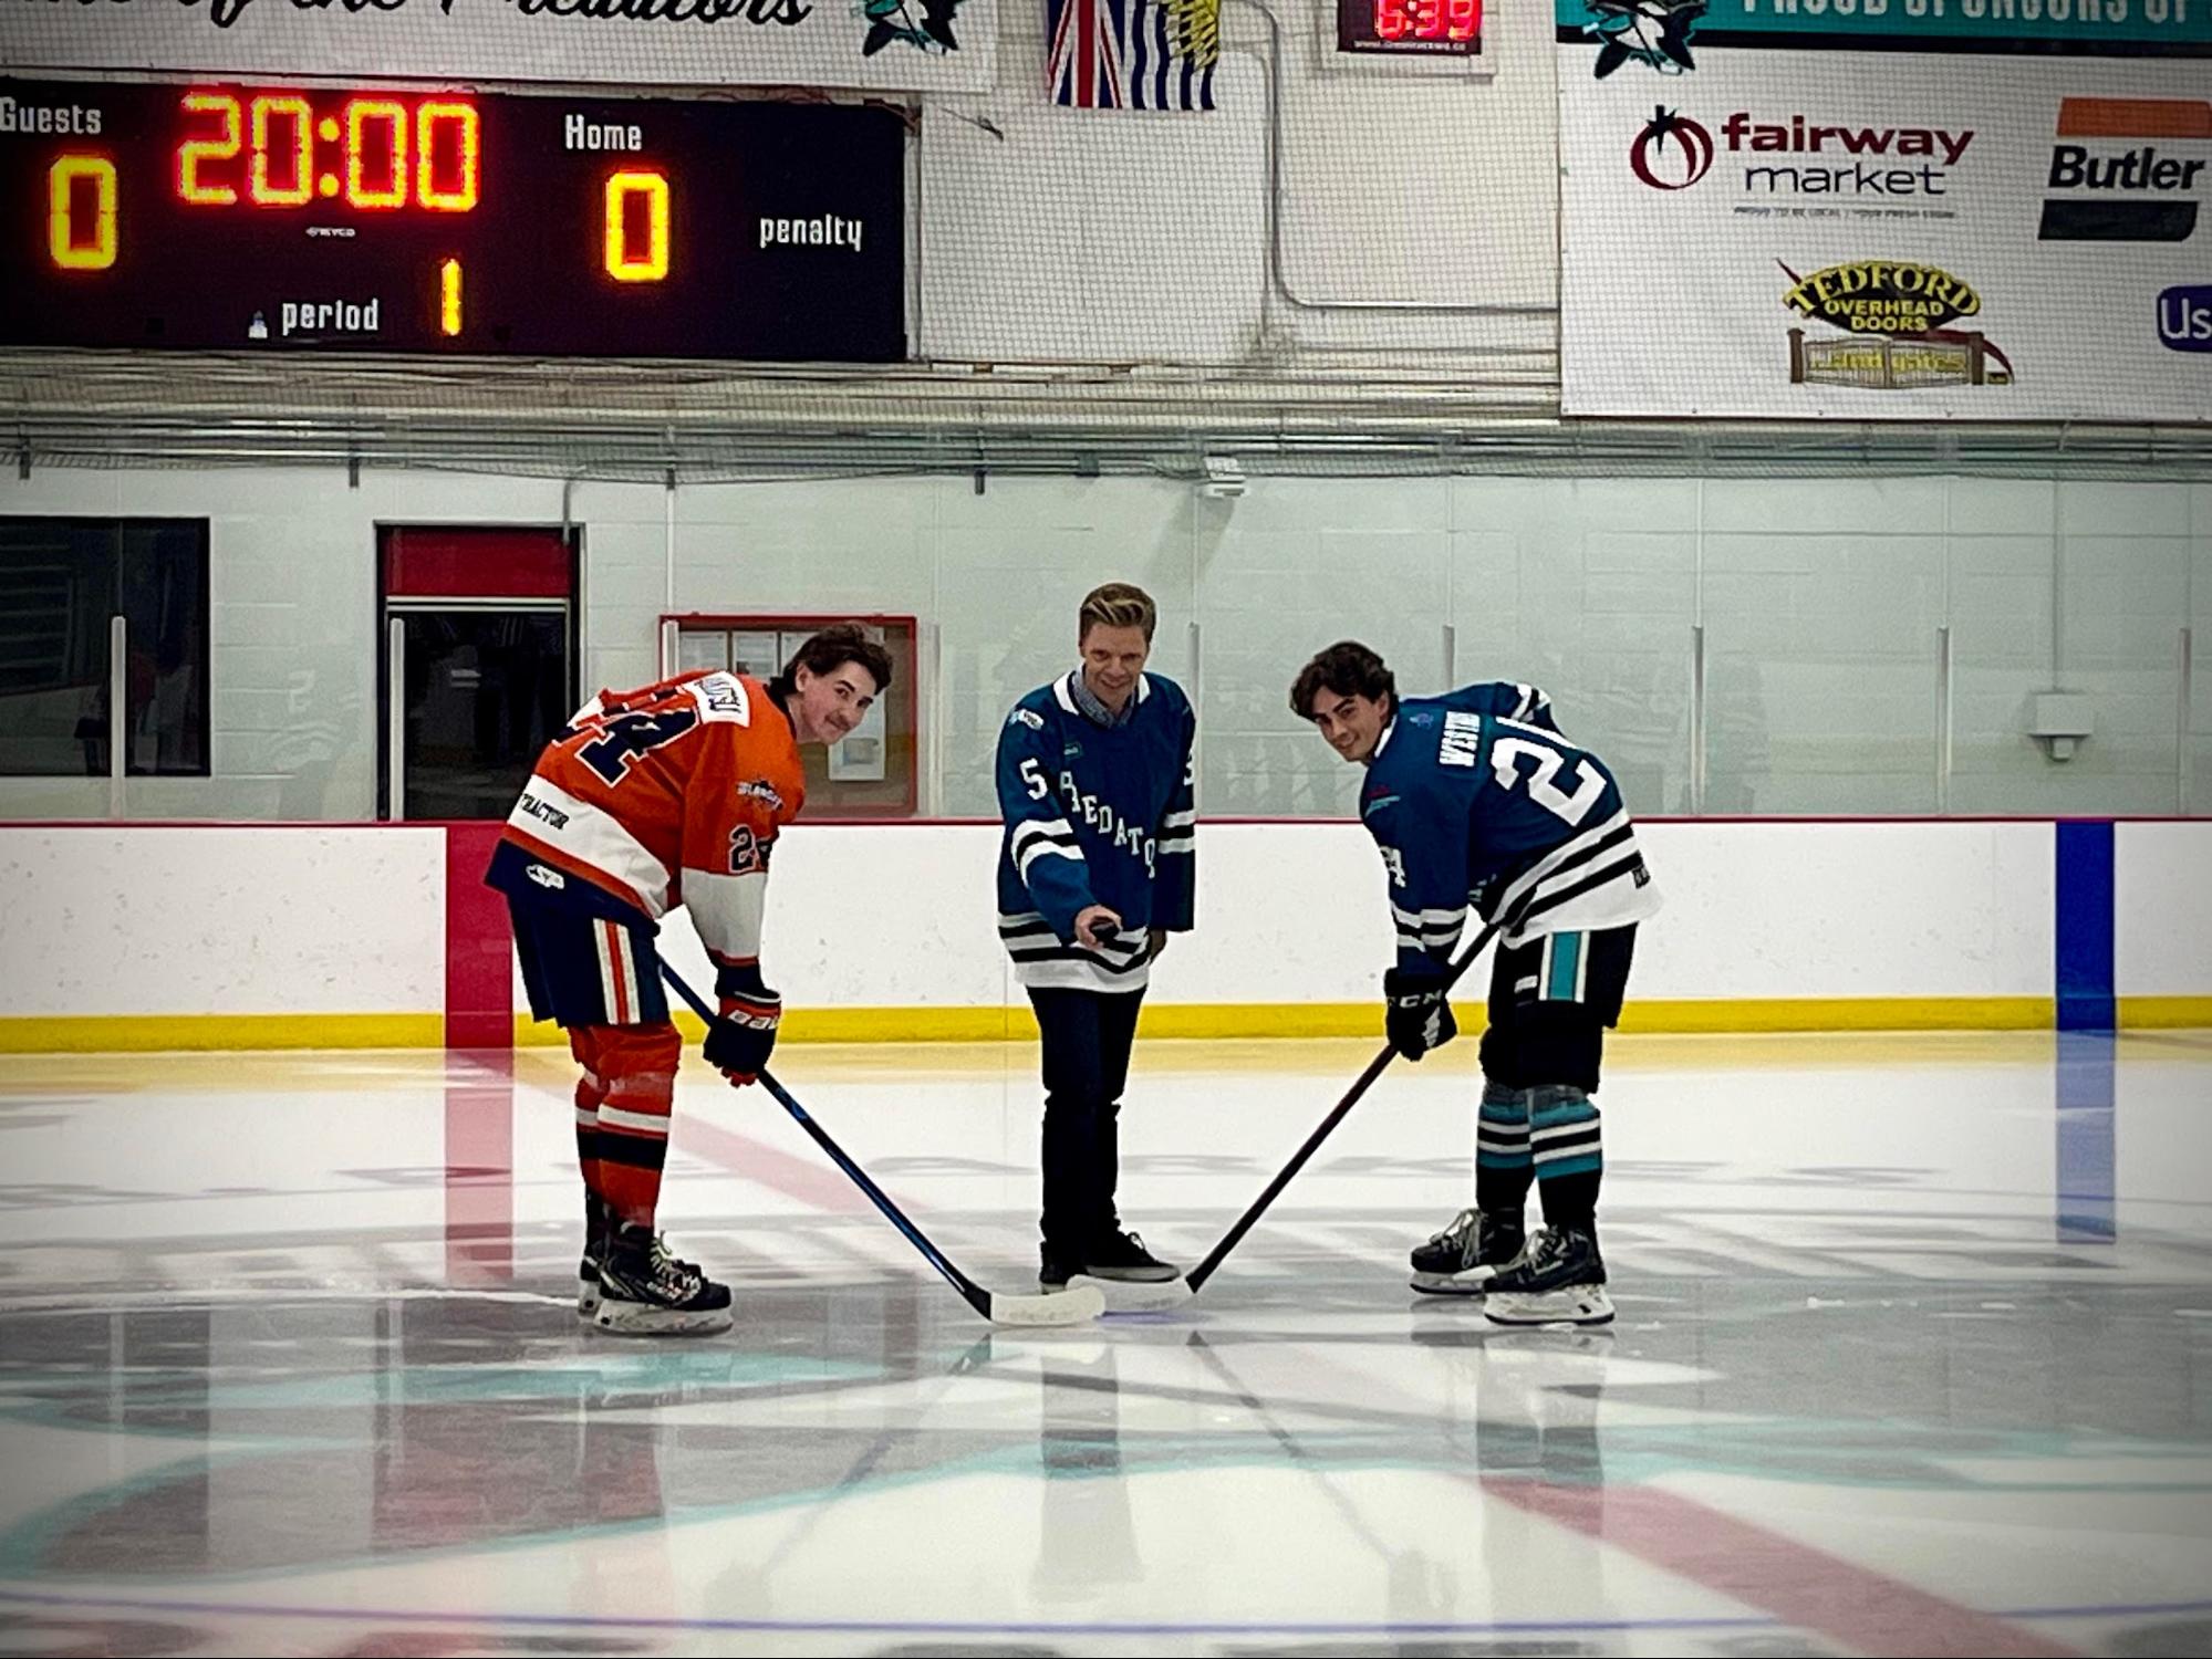
[[[0,80],[0,345],[891,363],[856,104]]]

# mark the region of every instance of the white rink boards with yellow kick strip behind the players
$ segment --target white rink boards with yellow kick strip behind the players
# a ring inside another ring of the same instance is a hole
[[[491,834],[0,827],[0,1048],[557,1042],[529,1022],[476,880]],[[2062,982],[2090,1006],[2117,998],[2124,1026],[2212,1024],[2212,823],[1655,821],[1644,836],[1666,909],[1639,938],[1628,1031],[2048,1029]],[[785,1037],[1029,1035],[993,927],[995,849],[991,823],[792,830],[765,945]],[[706,982],[681,916],[664,940]],[[1356,825],[1201,825],[1199,931],[1161,958],[1146,1031],[1369,1035],[1389,949]],[[1462,998],[1469,1024],[1478,1004]]]

